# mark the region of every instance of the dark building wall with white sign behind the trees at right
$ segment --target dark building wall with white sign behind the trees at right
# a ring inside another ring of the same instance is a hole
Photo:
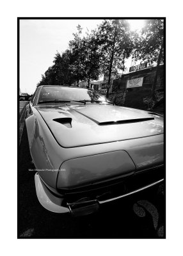
[[[131,72],[114,79],[111,92],[122,95],[123,106],[146,109],[145,101],[152,93],[156,67],[141,65],[130,70]],[[157,100],[164,98],[164,64],[159,66],[155,93]]]

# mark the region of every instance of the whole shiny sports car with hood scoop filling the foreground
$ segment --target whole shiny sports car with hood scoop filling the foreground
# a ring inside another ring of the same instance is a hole
[[[39,86],[26,107],[36,195],[74,216],[164,179],[163,116],[115,106],[91,89]]]

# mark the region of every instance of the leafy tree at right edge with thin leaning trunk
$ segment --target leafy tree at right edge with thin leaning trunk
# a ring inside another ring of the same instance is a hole
[[[147,20],[146,26],[142,29],[141,35],[136,35],[136,49],[134,59],[147,61],[152,64],[157,62],[154,83],[152,86],[152,99],[155,99],[155,86],[157,83],[157,74],[159,65],[164,59],[164,20]]]

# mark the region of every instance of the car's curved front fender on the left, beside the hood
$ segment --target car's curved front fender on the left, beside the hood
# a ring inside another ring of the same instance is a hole
[[[36,172],[51,188],[56,188],[56,178],[61,164],[60,146],[54,140],[42,116],[33,108],[26,118],[29,150]]]

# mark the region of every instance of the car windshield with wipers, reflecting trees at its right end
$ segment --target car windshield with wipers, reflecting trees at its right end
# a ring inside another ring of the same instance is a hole
[[[103,95],[95,90],[83,88],[70,88],[61,86],[44,86],[40,90],[38,104],[42,102],[70,102],[86,101],[86,102],[109,102]]]

